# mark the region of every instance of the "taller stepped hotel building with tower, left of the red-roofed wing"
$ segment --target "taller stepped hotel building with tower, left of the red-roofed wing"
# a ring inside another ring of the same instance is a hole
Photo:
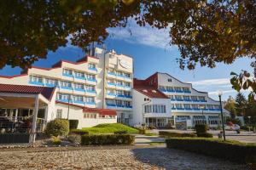
[[[32,92],[33,87],[54,88],[53,102],[43,107],[45,121],[55,118],[79,119],[79,128],[99,123],[123,122],[130,124],[132,117],[133,59],[124,54],[95,49],[94,56],[76,62],[61,60],[51,68],[32,66],[14,77],[0,77],[0,84],[9,84],[15,97]],[[20,87],[11,86],[20,85]],[[5,89],[0,89],[0,109],[3,115],[27,112],[25,106],[5,104]],[[18,101],[18,100],[15,100]],[[47,104],[47,102],[46,102]],[[45,104],[45,105],[46,105]],[[8,108],[9,107],[9,108]],[[0,111],[0,113],[1,113]],[[22,113],[21,113],[22,115]],[[102,120],[102,121],[101,121]],[[87,121],[87,122],[86,122]]]

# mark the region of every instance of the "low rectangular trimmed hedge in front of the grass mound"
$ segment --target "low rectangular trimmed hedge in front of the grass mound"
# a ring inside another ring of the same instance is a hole
[[[135,136],[131,134],[89,134],[83,135],[83,145],[133,144]]]

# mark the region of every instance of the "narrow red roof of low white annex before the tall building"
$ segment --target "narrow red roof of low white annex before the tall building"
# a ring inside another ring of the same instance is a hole
[[[56,103],[68,105],[67,103],[61,102],[61,101],[56,101]],[[116,111],[111,110],[111,109],[90,108],[90,107],[84,107],[81,105],[74,105],[74,104],[69,104],[69,105],[80,107],[81,109],[83,109],[84,112],[99,113],[100,115],[108,115],[108,116],[116,116],[117,115]]]

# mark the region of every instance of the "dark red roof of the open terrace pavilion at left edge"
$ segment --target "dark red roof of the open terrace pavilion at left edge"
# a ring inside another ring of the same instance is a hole
[[[0,84],[0,92],[20,94],[42,94],[46,99],[50,100],[55,92],[55,88],[14,84]]]

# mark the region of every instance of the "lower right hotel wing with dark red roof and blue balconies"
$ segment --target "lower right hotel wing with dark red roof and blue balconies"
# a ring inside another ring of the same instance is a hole
[[[166,73],[156,72],[145,80],[134,79],[133,99],[133,114],[137,117],[134,126],[187,129],[197,123],[207,123],[210,127],[220,124],[218,101],[207,92],[197,91],[191,83]],[[223,111],[224,116],[230,116],[229,111]]]

